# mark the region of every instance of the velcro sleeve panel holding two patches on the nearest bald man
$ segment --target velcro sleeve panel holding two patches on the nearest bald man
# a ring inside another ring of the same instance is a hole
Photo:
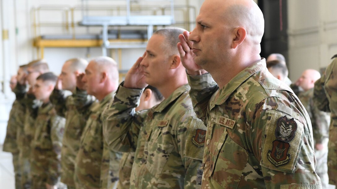
[[[261,165],[275,171],[294,173],[303,143],[303,123],[276,110],[267,110],[263,120]]]

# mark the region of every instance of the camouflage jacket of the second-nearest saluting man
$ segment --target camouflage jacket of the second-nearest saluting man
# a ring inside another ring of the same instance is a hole
[[[119,86],[103,133],[111,149],[135,151],[130,188],[200,188],[206,126],[193,112],[189,89],[183,85],[135,112],[143,90]]]

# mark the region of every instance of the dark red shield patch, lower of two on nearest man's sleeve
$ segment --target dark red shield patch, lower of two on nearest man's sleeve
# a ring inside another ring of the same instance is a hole
[[[273,142],[272,150],[268,150],[268,160],[272,162],[275,166],[288,163],[290,161],[290,154],[288,154],[289,148],[289,143],[275,140]]]

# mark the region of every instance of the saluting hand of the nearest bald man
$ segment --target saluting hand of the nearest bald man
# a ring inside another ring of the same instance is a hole
[[[180,42],[177,44],[177,48],[180,54],[181,63],[190,75],[202,75],[207,73],[203,68],[195,64],[193,60],[195,54],[192,52],[193,42],[188,40],[188,36],[188,31],[184,31],[183,34],[179,35]]]

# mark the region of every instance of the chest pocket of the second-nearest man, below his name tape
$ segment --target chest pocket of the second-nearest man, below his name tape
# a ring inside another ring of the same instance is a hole
[[[160,177],[174,148],[171,130],[171,127],[168,126],[168,120],[157,121],[147,139],[146,167],[156,179]]]

